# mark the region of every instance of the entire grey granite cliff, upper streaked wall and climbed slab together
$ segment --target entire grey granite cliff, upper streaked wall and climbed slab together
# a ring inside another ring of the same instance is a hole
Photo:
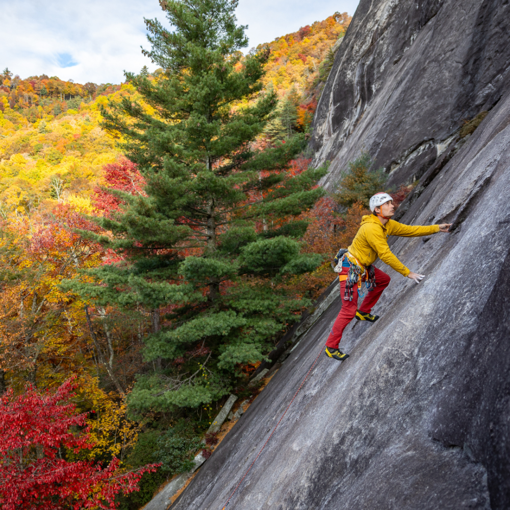
[[[392,278],[381,318],[349,324],[345,362],[321,354],[227,509],[510,508],[509,14],[502,0],[360,3],[315,121],[317,161],[333,158],[323,184],[363,148],[378,166],[402,160],[395,184],[421,179],[400,221],[453,232],[391,239],[426,278],[376,263]],[[337,296],[172,509],[223,508],[340,307]]]

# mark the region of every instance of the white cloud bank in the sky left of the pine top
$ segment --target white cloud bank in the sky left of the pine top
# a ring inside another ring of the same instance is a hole
[[[147,46],[143,17],[164,17],[156,0],[3,4],[0,66],[21,78],[45,73],[78,83],[120,83],[123,69],[154,68],[140,45]]]

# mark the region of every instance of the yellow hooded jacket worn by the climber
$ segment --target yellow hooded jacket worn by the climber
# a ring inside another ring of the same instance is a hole
[[[411,271],[407,269],[391,252],[388,246],[388,237],[418,237],[429,236],[439,232],[439,225],[411,226],[398,221],[388,220],[383,225],[373,214],[363,216],[360,230],[347,248],[365,267],[373,264],[377,257],[388,264],[395,271],[407,276]]]

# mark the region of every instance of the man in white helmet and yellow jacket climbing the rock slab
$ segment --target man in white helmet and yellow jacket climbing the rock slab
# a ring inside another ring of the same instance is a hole
[[[387,193],[376,193],[370,198],[373,214],[363,216],[358,233],[346,250],[340,250],[335,258],[335,271],[340,273],[340,295],[342,308],[333,324],[326,341],[326,355],[343,361],[349,357],[338,349],[345,326],[355,317],[358,320],[375,322],[379,316],[371,315],[372,308],[382,291],[390,283],[390,277],[372,266],[377,257],[403,276],[417,284],[425,277],[407,269],[391,252],[388,237],[429,236],[438,232],[448,232],[451,223],[429,226],[410,226],[391,219],[395,214],[393,199]],[[362,285],[364,283],[365,285]],[[365,287],[365,289],[363,288]],[[358,296],[367,295],[358,309]]]

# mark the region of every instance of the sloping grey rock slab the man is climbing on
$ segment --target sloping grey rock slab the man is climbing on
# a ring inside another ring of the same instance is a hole
[[[345,362],[321,355],[228,508],[510,507],[509,147],[506,95],[402,218],[456,225],[392,242],[424,281],[376,263],[392,277],[374,309],[381,318],[349,324]],[[173,510],[223,508],[340,306],[338,296],[302,336]]]

